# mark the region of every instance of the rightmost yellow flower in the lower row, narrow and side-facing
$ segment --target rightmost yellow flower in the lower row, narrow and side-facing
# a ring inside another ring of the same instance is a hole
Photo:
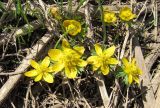
[[[123,70],[127,74],[128,83],[131,84],[133,81],[139,84],[139,75],[142,74],[142,71],[139,67],[136,66],[135,58],[131,62],[128,62],[126,58],[122,59]]]

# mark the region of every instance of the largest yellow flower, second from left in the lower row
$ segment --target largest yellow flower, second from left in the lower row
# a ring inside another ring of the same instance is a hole
[[[55,72],[65,69],[66,77],[75,78],[78,72],[77,67],[84,67],[87,65],[86,61],[80,59],[84,50],[82,46],[74,46],[72,49],[68,41],[63,39],[62,50],[50,49],[48,52],[48,55],[55,62],[52,69]]]

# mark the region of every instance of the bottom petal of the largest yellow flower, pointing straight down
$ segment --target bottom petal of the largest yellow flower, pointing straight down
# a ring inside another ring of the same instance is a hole
[[[66,66],[65,67],[65,75],[66,75],[66,77],[68,77],[70,79],[76,78],[77,68],[75,66],[72,66],[72,67]]]

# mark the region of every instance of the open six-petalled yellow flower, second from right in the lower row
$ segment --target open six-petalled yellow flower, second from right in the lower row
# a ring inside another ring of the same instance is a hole
[[[90,56],[87,61],[89,64],[93,65],[93,71],[100,68],[103,75],[107,75],[109,73],[109,65],[118,64],[118,60],[116,58],[112,58],[116,48],[115,46],[112,46],[102,51],[99,44],[95,44],[94,46],[96,55]]]

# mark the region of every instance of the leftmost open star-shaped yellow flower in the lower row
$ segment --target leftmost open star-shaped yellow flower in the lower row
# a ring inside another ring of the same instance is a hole
[[[31,60],[30,61],[31,66],[34,68],[33,70],[30,70],[28,72],[25,72],[24,75],[27,77],[34,77],[34,81],[38,82],[42,78],[44,81],[48,83],[53,83],[54,79],[52,76],[52,68],[49,67],[50,60],[49,57],[45,57],[41,64],[38,64],[36,61]]]

